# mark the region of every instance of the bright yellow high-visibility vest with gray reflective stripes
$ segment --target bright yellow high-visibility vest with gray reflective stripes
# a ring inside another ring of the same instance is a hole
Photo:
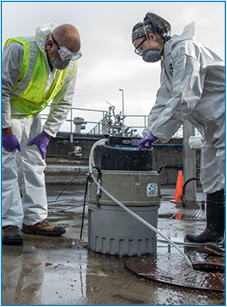
[[[34,37],[9,39],[5,46],[10,42],[21,43],[24,47],[20,77],[16,86],[12,88],[10,104],[13,114],[11,117],[37,116],[56,96],[62,86],[72,78],[76,71],[76,61],[70,62],[68,68],[57,71],[54,81],[45,93],[46,63]]]

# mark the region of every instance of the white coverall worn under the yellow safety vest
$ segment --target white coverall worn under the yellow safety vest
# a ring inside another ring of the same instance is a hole
[[[48,23],[36,29],[35,40],[44,54],[47,81],[45,92],[55,79],[57,70],[51,71],[45,52],[46,38],[53,29],[54,23]],[[17,84],[23,59],[23,45],[17,42],[9,43],[2,54],[2,128],[12,127],[21,152],[9,152],[2,148],[2,227],[14,225],[22,228],[22,224],[34,225],[47,218],[48,208],[45,189],[45,160],[36,145],[27,143],[41,131],[41,118],[20,117],[11,118],[17,114],[10,105],[11,89]],[[31,61],[35,61],[35,58]],[[74,65],[70,62],[70,66]],[[76,72],[68,83],[54,97],[49,116],[43,131],[55,137],[60,126],[67,118],[73,103]],[[23,195],[21,198],[20,191]]]

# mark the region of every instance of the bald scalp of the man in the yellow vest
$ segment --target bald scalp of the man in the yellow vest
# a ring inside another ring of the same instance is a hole
[[[80,50],[80,35],[73,25],[60,25],[53,30],[53,35],[60,46],[67,47],[71,52]]]

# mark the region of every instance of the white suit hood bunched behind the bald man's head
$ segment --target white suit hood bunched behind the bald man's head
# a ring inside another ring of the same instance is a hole
[[[45,47],[46,47],[47,35],[50,34],[57,26],[58,25],[54,22],[48,22],[42,26],[39,26],[35,30],[36,43],[44,55],[46,54]]]

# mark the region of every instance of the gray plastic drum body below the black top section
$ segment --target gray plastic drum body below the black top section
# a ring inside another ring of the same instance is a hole
[[[153,171],[102,171],[104,189],[155,228],[159,207],[158,180],[157,172]],[[89,189],[88,245],[102,254],[140,256],[155,253],[157,239],[155,232],[103,192],[97,204],[96,185],[93,182]]]

